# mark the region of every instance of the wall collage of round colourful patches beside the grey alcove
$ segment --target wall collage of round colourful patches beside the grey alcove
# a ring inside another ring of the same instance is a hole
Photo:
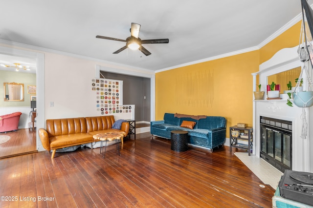
[[[92,79],[91,89],[95,91],[96,110],[101,115],[132,112],[132,106],[123,105],[123,81]]]

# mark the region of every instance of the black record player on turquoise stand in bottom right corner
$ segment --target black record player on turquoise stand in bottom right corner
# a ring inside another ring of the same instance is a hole
[[[313,173],[285,170],[278,187],[281,197],[313,206]]]

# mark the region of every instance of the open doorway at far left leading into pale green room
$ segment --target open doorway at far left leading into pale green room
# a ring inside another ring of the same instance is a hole
[[[0,83],[15,83],[22,86],[19,99],[10,96],[10,84],[3,84],[0,95],[0,115],[21,112],[18,129],[16,131],[1,132],[0,136],[9,140],[0,144],[0,158],[11,157],[37,151],[36,131],[31,131],[32,114],[31,100],[36,100],[36,60],[25,57],[0,54]],[[12,88],[13,89],[13,88]],[[32,89],[32,90],[30,90]],[[4,121],[3,121],[4,123]],[[7,123],[6,123],[7,124]]]

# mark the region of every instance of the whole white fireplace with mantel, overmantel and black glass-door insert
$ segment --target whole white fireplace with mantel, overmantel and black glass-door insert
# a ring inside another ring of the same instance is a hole
[[[257,77],[258,83],[266,86],[268,76],[302,66],[297,49],[298,46],[284,48],[262,63],[259,71],[252,73],[253,91],[257,91]],[[310,70],[310,73],[313,77],[313,70]],[[303,86],[307,86],[307,83],[304,82]],[[267,94],[266,88],[264,90]],[[265,95],[264,100],[253,100],[252,154],[264,158],[282,172],[284,169],[313,172],[313,107],[290,107],[286,103],[284,96],[281,99],[267,99]],[[307,122],[304,122],[305,117]],[[305,126],[307,136],[303,136]],[[269,140],[265,142],[264,137]],[[282,139],[276,141],[276,137]],[[287,149],[290,153],[285,151]]]

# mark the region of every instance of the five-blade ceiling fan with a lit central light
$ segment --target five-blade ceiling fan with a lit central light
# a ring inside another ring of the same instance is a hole
[[[137,50],[139,49],[144,55],[149,56],[151,53],[142,46],[142,44],[148,44],[148,43],[168,43],[168,39],[152,39],[152,40],[141,40],[139,36],[139,30],[140,30],[140,24],[132,22],[132,26],[130,29],[131,36],[128,37],[126,40],[118,39],[118,38],[110,38],[106,36],[100,36],[97,35],[96,38],[102,38],[102,39],[107,39],[107,40],[112,40],[112,41],[121,41],[121,42],[126,42],[126,45],[117,51],[113,52],[113,54],[117,54],[126,48],[130,48],[132,50]]]

